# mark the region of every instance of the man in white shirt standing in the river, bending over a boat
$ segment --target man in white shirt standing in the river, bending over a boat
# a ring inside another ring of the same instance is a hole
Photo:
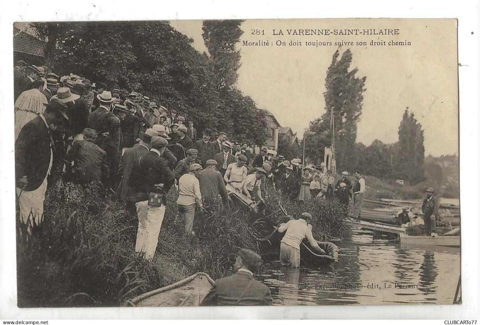
[[[325,255],[312,235],[312,215],[303,212],[299,220],[290,220],[278,227],[278,232],[286,232],[280,243],[280,264],[283,266],[300,267],[300,243],[307,238],[312,247]]]

